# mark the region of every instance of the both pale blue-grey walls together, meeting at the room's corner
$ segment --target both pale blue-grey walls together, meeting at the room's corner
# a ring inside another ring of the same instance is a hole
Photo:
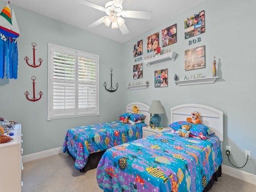
[[[0,7],[5,5],[6,2],[0,1]],[[18,38],[18,80],[6,78],[0,80],[2,101],[0,116],[22,123],[23,148],[26,155],[62,146],[66,130],[74,126],[116,120],[130,102],[139,101],[150,105],[152,100],[161,100],[166,111],[165,115],[161,115],[163,126],[168,126],[170,122],[171,107],[185,103],[205,104],[224,112],[223,146],[224,148],[226,145],[231,146],[232,163],[242,166],[246,161],[244,150],[250,150],[252,160],[249,160],[241,170],[256,174],[256,129],[253,118],[256,107],[255,7],[254,0],[247,0],[246,3],[238,0],[206,0],[133,40],[119,44],[13,6],[21,33]],[[184,40],[184,19],[201,10],[205,10],[206,32],[197,36],[201,37],[201,42],[189,46],[188,40],[193,38]],[[168,16],[168,13],[166,15]],[[132,44],[143,40],[142,58],[144,59],[148,55],[146,37],[175,23],[177,23],[178,42],[166,48],[178,53],[176,60],[155,63],[151,67],[144,64],[144,77],[141,80],[143,83],[148,80],[150,86],[141,90],[126,89],[129,83],[136,82],[132,80],[132,67],[139,63],[134,62],[132,57]],[[37,44],[36,60],[41,57],[44,61],[39,68],[29,67],[24,60],[25,56],[30,58],[30,62],[32,60],[32,42]],[[100,55],[99,117],[46,121],[48,42]],[[184,50],[201,45],[206,47],[206,68],[185,72]],[[218,76],[220,76],[215,84],[177,86],[172,82],[174,74],[178,74],[180,79],[185,75],[198,73],[207,77],[212,76],[213,56],[216,56]],[[114,93],[107,92],[103,87],[105,81],[110,82],[110,68],[114,69],[114,84],[118,82],[120,85],[118,91]],[[166,88],[154,88],[154,70],[163,68],[168,68],[169,85]],[[31,76],[37,78],[36,92],[44,93],[38,102],[30,102],[24,95],[26,91],[32,93]],[[223,164],[232,167],[226,155]]]

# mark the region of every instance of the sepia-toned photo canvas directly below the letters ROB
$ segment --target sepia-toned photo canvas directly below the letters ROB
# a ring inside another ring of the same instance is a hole
[[[185,51],[185,71],[205,68],[205,46]]]

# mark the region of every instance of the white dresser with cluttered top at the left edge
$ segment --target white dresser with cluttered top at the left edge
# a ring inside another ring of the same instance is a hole
[[[21,171],[23,165],[21,155],[21,124],[14,127],[13,140],[0,144],[0,191],[1,192],[21,192],[23,185],[21,181]]]

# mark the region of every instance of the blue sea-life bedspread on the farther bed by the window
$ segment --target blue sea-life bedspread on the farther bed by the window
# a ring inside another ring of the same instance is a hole
[[[117,121],[72,128],[66,133],[63,152],[68,150],[76,158],[75,168],[80,170],[90,154],[142,138],[143,126],[146,124],[131,125]]]

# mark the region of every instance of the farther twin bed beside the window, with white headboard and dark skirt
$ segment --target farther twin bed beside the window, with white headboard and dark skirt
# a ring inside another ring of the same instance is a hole
[[[142,138],[142,127],[150,121],[149,106],[133,102],[126,106],[126,112],[132,113],[133,106],[137,106],[138,114],[146,116],[145,123],[124,124],[118,117],[115,122],[76,127],[67,131],[63,152],[73,158],[76,169],[80,172],[94,169],[108,148]]]

